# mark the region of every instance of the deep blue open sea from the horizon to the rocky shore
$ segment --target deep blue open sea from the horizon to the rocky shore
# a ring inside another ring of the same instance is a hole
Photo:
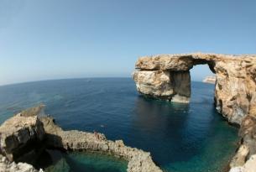
[[[238,129],[229,126],[215,111],[213,85],[191,84],[189,104],[139,96],[130,78],[37,81],[0,86],[0,122],[13,112],[44,103],[45,112],[55,117],[62,128],[96,130],[109,139],[123,139],[129,146],[149,151],[154,162],[168,172],[221,171],[238,147]],[[90,154],[65,156],[73,159],[70,164],[85,166],[88,166],[88,159],[95,158],[88,158]],[[92,169],[88,171],[99,171],[93,169],[99,166],[99,159],[89,162]],[[120,164],[112,163],[112,168],[115,165]]]

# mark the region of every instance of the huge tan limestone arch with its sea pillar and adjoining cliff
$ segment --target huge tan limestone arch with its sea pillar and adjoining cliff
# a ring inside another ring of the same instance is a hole
[[[190,71],[206,64],[216,74],[217,111],[240,125],[248,114],[256,117],[256,55],[153,55],[138,59],[133,73],[138,92],[170,102],[189,102]]]

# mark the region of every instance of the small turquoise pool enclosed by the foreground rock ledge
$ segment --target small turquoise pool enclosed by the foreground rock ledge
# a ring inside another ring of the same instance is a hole
[[[51,159],[54,159],[54,164],[44,169],[45,172],[126,172],[128,166],[128,162],[110,155],[81,152],[70,154],[56,151],[48,152],[51,154]],[[42,157],[41,159],[44,160]]]

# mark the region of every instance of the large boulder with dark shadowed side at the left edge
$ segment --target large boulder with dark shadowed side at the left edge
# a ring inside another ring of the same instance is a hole
[[[0,153],[8,160],[31,154],[36,143],[44,138],[44,128],[37,116],[23,117],[21,113],[0,126]]]

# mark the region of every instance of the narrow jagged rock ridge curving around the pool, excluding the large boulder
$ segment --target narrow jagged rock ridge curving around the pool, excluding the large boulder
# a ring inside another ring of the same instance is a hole
[[[161,172],[149,153],[125,146],[122,140],[110,141],[102,133],[86,133],[76,130],[63,131],[53,118],[40,117],[44,123],[46,143],[51,148],[65,150],[89,150],[112,154],[128,160],[128,172]]]

